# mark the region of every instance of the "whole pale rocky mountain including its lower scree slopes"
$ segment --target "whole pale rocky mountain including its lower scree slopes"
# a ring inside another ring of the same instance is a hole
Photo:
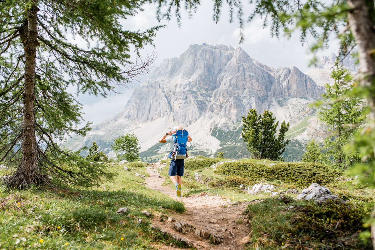
[[[168,127],[179,124],[202,138],[193,141],[196,147],[215,151],[221,142],[211,136],[213,127],[228,129],[252,108],[270,109],[278,120],[296,123],[311,114],[306,104],[323,91],[296,67],[273,69],[242,48],[190,45],[180,57],[163,60],[135,88],[124,110],[93,126],[84,141],[98,135],[111,141],[134,132],[146,150]],[[71,148],[84,142],[75,144]]]

